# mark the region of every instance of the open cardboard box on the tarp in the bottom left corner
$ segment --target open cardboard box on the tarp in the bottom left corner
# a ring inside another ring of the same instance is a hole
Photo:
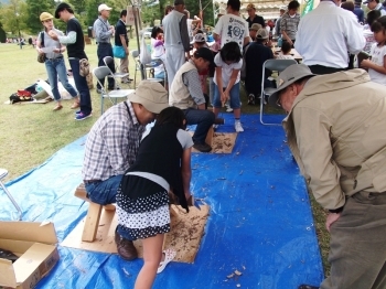
[[[57,263],[56,233],[50,222],[0,222],[0,248],[19,259],[0,258],[0,288],[33,288]]]

